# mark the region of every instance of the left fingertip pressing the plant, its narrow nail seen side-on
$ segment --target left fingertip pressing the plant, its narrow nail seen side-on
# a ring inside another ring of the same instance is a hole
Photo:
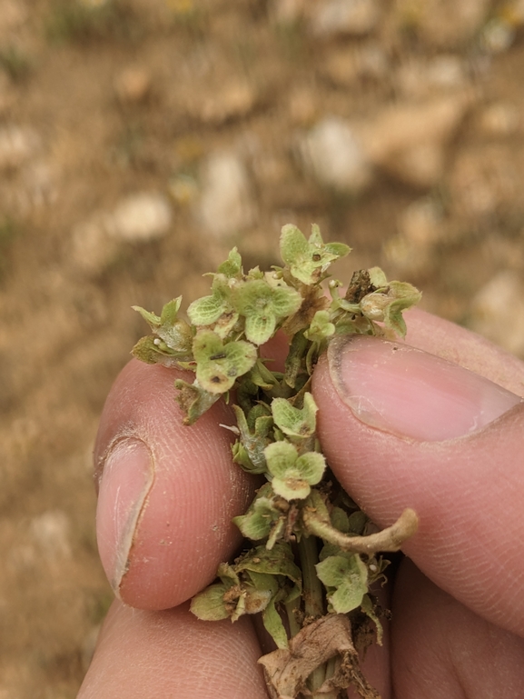
[[[144,609],[180,604],[213,580],[218,564],[240,544],[232,517],[245,512],[255,487],[232,464],[232,433],[219,425],[234,420],[222,401],[196,424],[183,425],[173,387],[181,375],[134,360],[128,364],[104,406],[95,445],[102,489],[107,455],[125,438],[141,440],[152,455],[154,474],[120,574],[111,570],[116,560],[112,518],[125,509],[118,498],[125,493],[122,481],[133,476],[126,471],[128,465],[135,467],[131,459],[118,472],[121,482],[113,483],[106,497],[101,493],[97,514],[99,549],[110,582],[125,603]]]

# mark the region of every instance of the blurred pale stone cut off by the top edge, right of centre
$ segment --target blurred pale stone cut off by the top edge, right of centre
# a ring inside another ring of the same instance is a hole
[[[325,0],[311,15],[311,33],[316,36],[365,35],[381,19],[377,0]]]

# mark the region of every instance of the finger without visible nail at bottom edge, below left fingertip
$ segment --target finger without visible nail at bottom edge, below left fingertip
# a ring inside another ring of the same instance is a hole
[[[267,699],[250,620],[201,622],[184,604],[163,612],[118,601],[78,699]]]

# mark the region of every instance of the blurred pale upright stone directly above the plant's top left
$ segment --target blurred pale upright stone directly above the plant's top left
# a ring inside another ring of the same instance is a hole
[[[217,236],[238,233],[254,221],[252,187],[242,159],[232,151],[210,155],[203,164],[197,217]]]

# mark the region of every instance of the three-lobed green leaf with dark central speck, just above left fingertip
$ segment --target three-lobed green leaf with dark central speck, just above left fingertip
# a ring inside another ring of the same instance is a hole
[[[211,394],[223,394],[252,368],[258,354],[251,343],[223,344],[213,330],[201,330],[193,340],[193,356],[199,384]]]

